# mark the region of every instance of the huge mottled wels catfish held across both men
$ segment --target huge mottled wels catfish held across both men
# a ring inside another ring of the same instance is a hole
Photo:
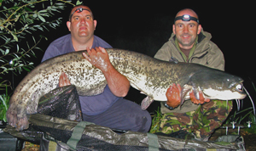
[[[199,98],[203,92],[210,99],[242,99],[242,79],[220,70],[213,70],[200,64],[166,62],[142,53],[109,48],[106,49],[113,67],[130,81],[131,87],[147,95],[142,109],[153,101],[166,101],[166,90],[172,83],[183,87],[182,103],[189,99],[189,92]],[[63,54],[44,61],[32,70],[10,98],[7,119],[17,130],[28,128],[26,115],[37,113],[38,100],[45,93],[55,89],[62,72],[67,74],[79,95],[93,96],[103,92],[107,81],[102,71],[90,64],[83,51]]]

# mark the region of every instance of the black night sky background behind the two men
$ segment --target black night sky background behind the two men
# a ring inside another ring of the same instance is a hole
[[[146,2],[146,3],[145,3]],[[254,98],[252,82],[255,78],[254,39],[255,13],[252,3],[203,1],[84,1],[91,8],[97,20],[95,35],[100,36],[113,48],[128,49],[149,56],[154,54],[168,41],[172,34],[172,24],[177,12],[192,8],[199,15],[204,31],[212,34],[212,42],[224,53],[225,70],[241,76],[244,85]],[[48,41],[39,47],[45,50],[49,43],[69,33],[66,26],[68,15],[73,7],[68,6],[61,14],[63,22],[56,30],[44,32]],[[40,63],[44,52],[38,52],[35,65]],[[18,84],[18,81],[15,81]],[[128,97],[140,103],[145,96],[131,89]],[[249,100],[246,104],[251,106]],[[155,103],[157,106],[158,103]],[[150,109],[149,109],[150,110]]]

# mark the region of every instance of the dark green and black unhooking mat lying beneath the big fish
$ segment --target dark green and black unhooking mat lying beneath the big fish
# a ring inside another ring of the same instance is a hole
[[[219,142],[204,143],[135,131],[116,133],[108,127],[97,126],[81,119],[75,87],[59,87],[40,99],[38,114],[29,115],[31,125],[28,130],[15,131],[15,128],[7,126],[4,131],[32,143],[42,143],[46,139],[49,147],[43,150],[245,150],[243,139],[239,136],[227,140],[227,137],[223,137]]]

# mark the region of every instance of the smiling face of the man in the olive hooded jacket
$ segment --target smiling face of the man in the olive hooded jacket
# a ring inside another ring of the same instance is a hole
[[[194,20],[177,20],[172,30],[181,48],[192,48],[197,34],[201,32],[201,25]]]

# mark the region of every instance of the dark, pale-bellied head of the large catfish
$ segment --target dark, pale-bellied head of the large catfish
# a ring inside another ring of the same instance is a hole
[[[240,77],[220,70],[195,73],[189,82],[196,98],[199,98],[199,91],[203,92],[205,98],[219,100],[243,99],[247,96]]]

